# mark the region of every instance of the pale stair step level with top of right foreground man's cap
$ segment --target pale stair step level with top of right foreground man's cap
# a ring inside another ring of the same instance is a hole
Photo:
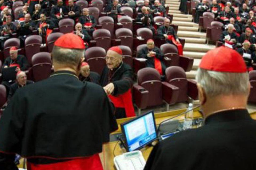
[[[185,43],[184,51],[207,52],[214,49],[215,45]]]

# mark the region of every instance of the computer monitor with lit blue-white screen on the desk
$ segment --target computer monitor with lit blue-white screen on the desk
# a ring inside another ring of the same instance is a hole
[[[121,124],[126,151],[138,150],[157,139],[154,111]]]

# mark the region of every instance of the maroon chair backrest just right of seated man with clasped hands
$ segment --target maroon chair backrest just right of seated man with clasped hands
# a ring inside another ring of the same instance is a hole
[[[161,51],[163,52],[165,57],[171,59],[172,66],[179,66],[179,54],[178,49],[173,44],[162,44],[160,46]]]

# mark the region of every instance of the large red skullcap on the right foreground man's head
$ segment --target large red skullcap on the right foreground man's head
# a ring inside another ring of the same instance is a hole
[[[199,68],[230,73],[245,73],[245,62],[235,50],[221,46],[208,51],[202,58]]]

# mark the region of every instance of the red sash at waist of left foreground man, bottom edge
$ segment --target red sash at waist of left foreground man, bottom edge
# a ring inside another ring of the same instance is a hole
[[[103,170],[99,154],[52,164],[33,164],[27,162],[27,170]]]

